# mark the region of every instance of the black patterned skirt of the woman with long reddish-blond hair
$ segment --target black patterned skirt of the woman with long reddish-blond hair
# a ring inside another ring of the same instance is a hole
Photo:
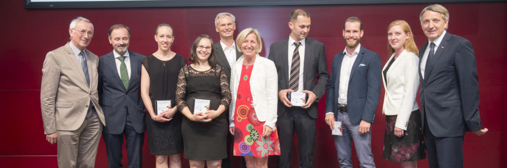
[[[426,147],[421,128],[421,111],[412,111],[407,131],[402,137],[394,135],[396,117],[385,116],[384,153],[382,158],[391,161],[417,161],[426,158]]]

